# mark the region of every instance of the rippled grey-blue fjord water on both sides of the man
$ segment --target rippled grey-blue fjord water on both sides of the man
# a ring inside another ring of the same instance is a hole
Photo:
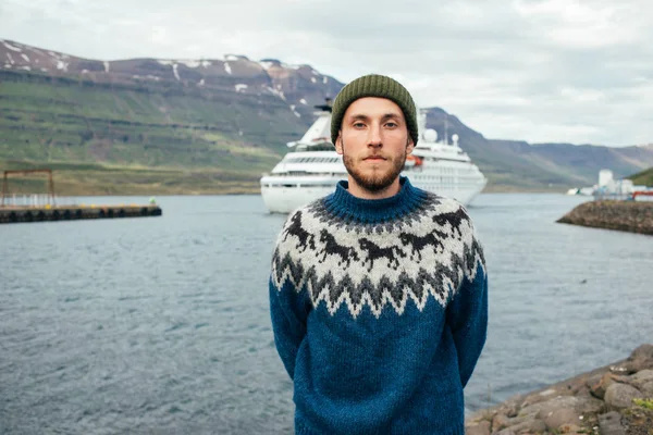
[[[470,208],[490,277],[470,410],[653,341],[653,237],[554,223],[583,200]],[[0,434],[292,431],[267,287],[284,217],[257,196],[159,203],[162,217],[0,226]]]

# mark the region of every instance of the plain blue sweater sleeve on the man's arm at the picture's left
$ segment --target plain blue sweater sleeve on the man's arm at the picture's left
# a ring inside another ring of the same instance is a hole
[[[274,345],[292,380],[295,378],[297,351],[306,336],[306,291],[296,291],[289,281],[278,288],[274,279],[270,278],[270,315]]]

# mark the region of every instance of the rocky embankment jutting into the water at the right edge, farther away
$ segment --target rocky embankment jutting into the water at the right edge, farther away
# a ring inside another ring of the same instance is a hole
[[[557,222],[653,235],[653,201],[588,201]]]

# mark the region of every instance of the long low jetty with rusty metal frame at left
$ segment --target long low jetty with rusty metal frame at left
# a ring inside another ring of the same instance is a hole
[[[9,175],[42,173],[48,175],[47,195],[10,195]],[[161,208],[151,200],[147,204],[61,204],[54,195],[51,170],[4,171],[2,199],[0,201],[0,224],[77,221],[89,219],[148,217],[163,214]]]

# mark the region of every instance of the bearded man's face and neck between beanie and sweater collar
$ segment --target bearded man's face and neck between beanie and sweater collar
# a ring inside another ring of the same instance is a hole
[[[398,191],[398,176],[412,147],[402,109],[374,97],[349,104],[335,141],[349,173],[349,188],[362,190],[366,197]]]

